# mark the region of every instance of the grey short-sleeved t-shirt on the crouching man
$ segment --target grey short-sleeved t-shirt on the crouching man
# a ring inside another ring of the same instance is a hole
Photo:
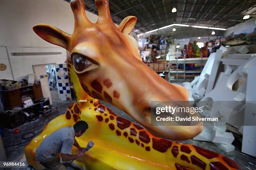
[[[59,153],[71,154],[74,144],[74,128],[65,127],[56,130],[47,136],[36,150],[36,160],[38,162],[48,162]]]

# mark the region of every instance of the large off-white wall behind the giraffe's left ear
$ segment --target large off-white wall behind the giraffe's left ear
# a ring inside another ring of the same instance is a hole
[[[0,79],[26,78],[29,73],[33,73],[32,65],[64,63],[66,51],[42,40],[32,27],[44,23],[72,33],[74,17],[68,2],[0,0],[0,13],[0,63],[7,65],[5,71],[0,71]],[[86,14],[93,23],[96,22],[97,15],[88,11]],[[13,56],[12,52],[61,52],[61,55]]]

